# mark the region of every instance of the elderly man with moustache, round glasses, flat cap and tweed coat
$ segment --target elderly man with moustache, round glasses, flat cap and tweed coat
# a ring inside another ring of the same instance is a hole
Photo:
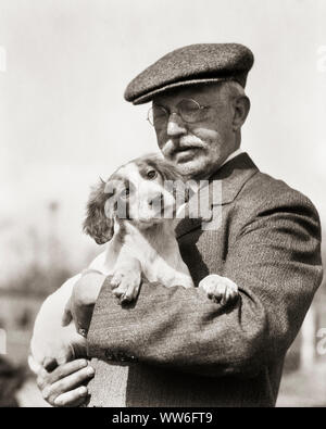
[[[239,300],[224,307],[199,288],[143,283],[136,305],[123,308],[110,278],[86,272],[71,311],[84,329],[92,316],[95,377],[82,386],[92,375],[85,359],[42,369],[38,382],[51,404],[80,405],[90,393],[90,406],[275,405],[286,352],[322,279],[321,227],[305,197],[240,151],[252,64],[241,45],[189,46],[148,67],[125,92],[134,104],[152,101],[160,150],[186,179],[222,184],[220,228],[185,218],[176,234],[195,283],[223,275],[238,286]]]

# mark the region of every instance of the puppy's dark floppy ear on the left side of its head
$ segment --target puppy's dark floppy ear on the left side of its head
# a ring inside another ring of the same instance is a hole
[[[92,189],[87,203],[87,214],[84,231],[95,239],[98,244],[110,241],[114,232],[114,211],[108,210],[105,203],[110,197],[105,193],[105,181],[101,181]]]

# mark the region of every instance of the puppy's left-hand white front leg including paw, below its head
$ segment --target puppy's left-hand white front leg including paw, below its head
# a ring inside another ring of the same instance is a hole
[[[121,303],[134,301],[141,285],[140,262],[122,249],[113,269],[111,286]]]

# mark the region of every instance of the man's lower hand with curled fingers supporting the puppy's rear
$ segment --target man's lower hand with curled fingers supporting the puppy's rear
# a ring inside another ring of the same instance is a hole
[[[76,359],[58,366],[52,371],[42,368],[37,377],[37,386],[43,399],[52,406],[80,406],[88,390],[83,383],[95,375],[86,359]]]

